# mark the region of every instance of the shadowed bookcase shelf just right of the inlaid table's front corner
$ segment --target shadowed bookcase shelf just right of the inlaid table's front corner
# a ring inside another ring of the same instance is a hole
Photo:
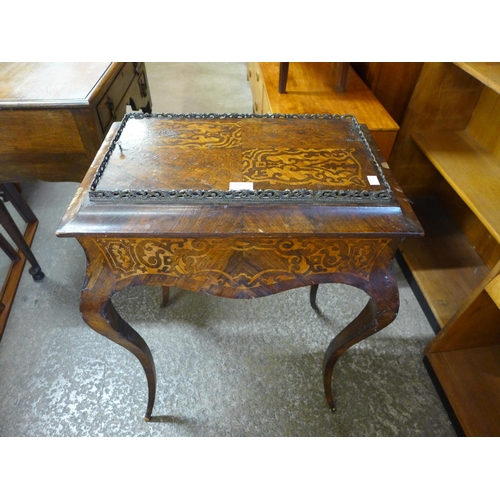
[[[488,275],[489,268],[437,198],[418,198],[412,207],[425,236],[403,242],[401,254],[443,327]]]

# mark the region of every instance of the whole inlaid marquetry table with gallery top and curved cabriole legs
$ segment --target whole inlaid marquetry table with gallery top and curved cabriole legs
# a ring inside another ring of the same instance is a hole
[[[334,337],[332,371],[350,346],[397,315],[392,260],[422,235],[368,129],[337,115],[130,114],[114,124],[75,195],[58,236],[75,237],[88,267],[80,310],[98,333],[156,375],[141,336],[113,307],[132,285],[249,299],[344,283],[369,296]]]

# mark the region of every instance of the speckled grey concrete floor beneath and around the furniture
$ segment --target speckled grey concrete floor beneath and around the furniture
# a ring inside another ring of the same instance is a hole
[[[153,112],[251,113],[245,63],[148,63]],[[129,289],[117,309],[155,358],[155,418],[143,419],[137,360],[90,330],[78,306],[85,256],[55,230],[74,183],[26,184],[40,224],[0,342],[0,436],[454,436],[423,366],[434,333],[398,270],[401,308],[334,370],[337,412],[323,394],[323,352],[364,306],[363,292],[320,287],[235,301],[174,289]]]

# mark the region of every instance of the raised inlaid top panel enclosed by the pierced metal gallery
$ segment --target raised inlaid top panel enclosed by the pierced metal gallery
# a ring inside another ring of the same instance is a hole
[[[392,198],[354,117],[129,115],[91,199],[383,202]]]

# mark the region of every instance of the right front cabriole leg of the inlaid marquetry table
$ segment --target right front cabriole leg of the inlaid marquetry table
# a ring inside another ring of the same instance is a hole
[[[372,275],[370,281],[360,288],[370,296],[370,300],[361,313],[333,339],[323,358],[325,396],[332,411],[335,411],[332,392],[335,363],[349,347],[392,323],[399,311],[399,290],[392,267]]]

